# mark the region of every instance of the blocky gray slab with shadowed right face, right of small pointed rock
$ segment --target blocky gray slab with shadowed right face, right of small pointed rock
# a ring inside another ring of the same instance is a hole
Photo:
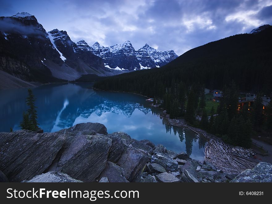
[[[132,181],[139,181],[142,171],[147,163],[147,155],[132,147],[126,147],[118,165],[124,169],[125,178]]]

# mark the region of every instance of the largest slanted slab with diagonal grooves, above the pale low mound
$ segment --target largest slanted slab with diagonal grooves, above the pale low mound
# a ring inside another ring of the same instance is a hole
[[[96,135],[72,138],[48,171],[62,171],[84,182],[94,181],[106,167],[112,139]]]

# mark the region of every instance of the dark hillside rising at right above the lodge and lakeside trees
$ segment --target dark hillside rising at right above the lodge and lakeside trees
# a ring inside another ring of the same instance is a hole
[[[270,96],[272,26],[260,26],[250,33],[193,48],[159,69],[108,77],[96,82],[94,88],[163,98],[165,90],[175,90],[181,81],[186,86],[205,85],[210,90],[222,90],[233,81],[246,93]]]

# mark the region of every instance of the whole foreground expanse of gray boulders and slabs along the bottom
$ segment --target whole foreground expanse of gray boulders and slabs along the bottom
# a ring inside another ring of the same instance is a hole
[[[184,152],[137,141],[124,132],[108,134],[99,123],[52,133],[1,132],[0,137],[0,181],[4,182],[226,182],[234,178]],[[263,172],[258,182],[271,182],[271,164],[260,163],[253,171]],[[256,180],[254,172],[248,181]],[[239,176],[233,181],[242,182]]]

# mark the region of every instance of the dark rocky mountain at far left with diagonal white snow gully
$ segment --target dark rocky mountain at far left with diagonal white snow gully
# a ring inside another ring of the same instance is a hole
[[[0,70],[41,83],[114,74],[100,57],[79,49],[66,31],[46,32],[29,13],[0,17]]]

